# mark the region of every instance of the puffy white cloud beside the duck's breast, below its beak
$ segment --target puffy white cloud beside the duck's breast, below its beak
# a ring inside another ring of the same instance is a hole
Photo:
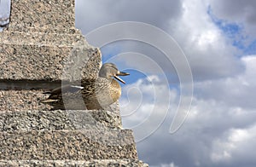
[[[145,135],[156,130],[166,118],[169,109],[175,110],[177,105],[170,104],[175,104],[178,99],[177,90],[160,82],[158,76],[152,75],[148,78],[126,85],[123,88],[123,98],[120,99],[124,127],[133,128],[136,133],[145,132]]]

